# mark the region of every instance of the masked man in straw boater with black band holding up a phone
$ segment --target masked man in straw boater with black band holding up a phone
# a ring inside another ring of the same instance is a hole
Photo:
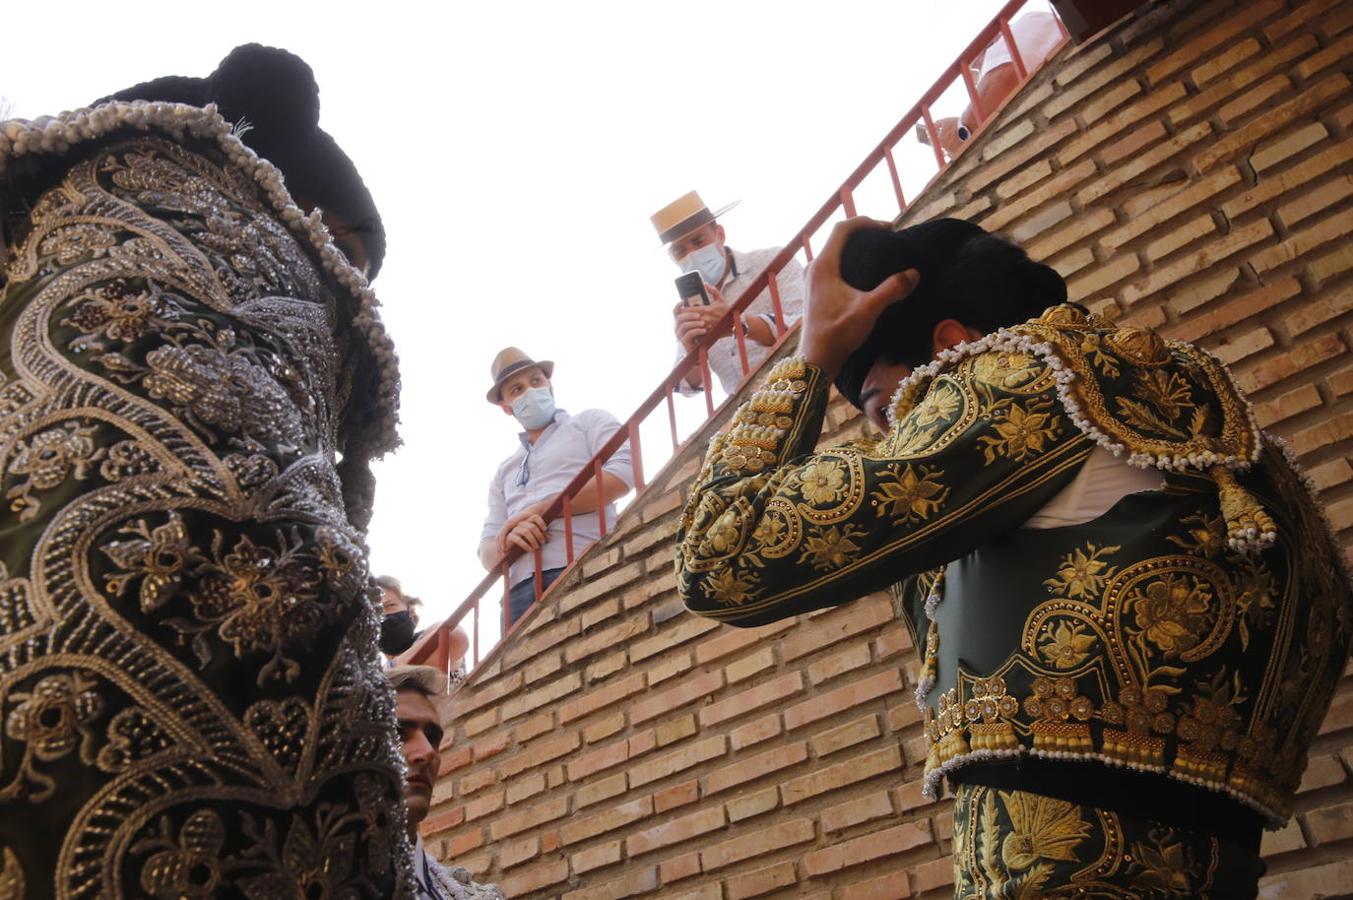
[[[674,202],[653,212],[651,221],[658,230],[658,240],[667,246],[667,253],[682,272],[700,272],[709,294],[709,306],[678,303],[676,317],[676,359],[695,349],[700,340],[718,326],[728,313],[728,305],[735,303],[747,287],[756,280],[781,248],[741,253],[727,245],[724,226],[718,217],[733,208],[736,203],[710,211],[694,191],[683,194]],[[775,276],[779,292],[779,306],[785,325],[798,321],[804,306],[804,268],[797,260],[790,260]],[[775,328],[775,305],[770,290],[763,290],[756,299],[737,317],[736,326],[746,336],[748,371],[760,365],[770,348],[779,338]],[[727,326],[725,326],[727,329]],[[737,352],[737,338],[732,333],[714,342],[709,351],[709,368],[718,378],[727,394],[733,394],[743,382],[741,359]],[[693,369],[682,384],[683,394],[693,394],[702,386],[700,368]]]

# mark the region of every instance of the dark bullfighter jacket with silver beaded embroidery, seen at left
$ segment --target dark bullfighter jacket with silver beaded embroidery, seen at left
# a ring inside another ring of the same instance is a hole
[[[375,298],[210,108],[11,122],[0,175],[0,897],[406,896]]]

